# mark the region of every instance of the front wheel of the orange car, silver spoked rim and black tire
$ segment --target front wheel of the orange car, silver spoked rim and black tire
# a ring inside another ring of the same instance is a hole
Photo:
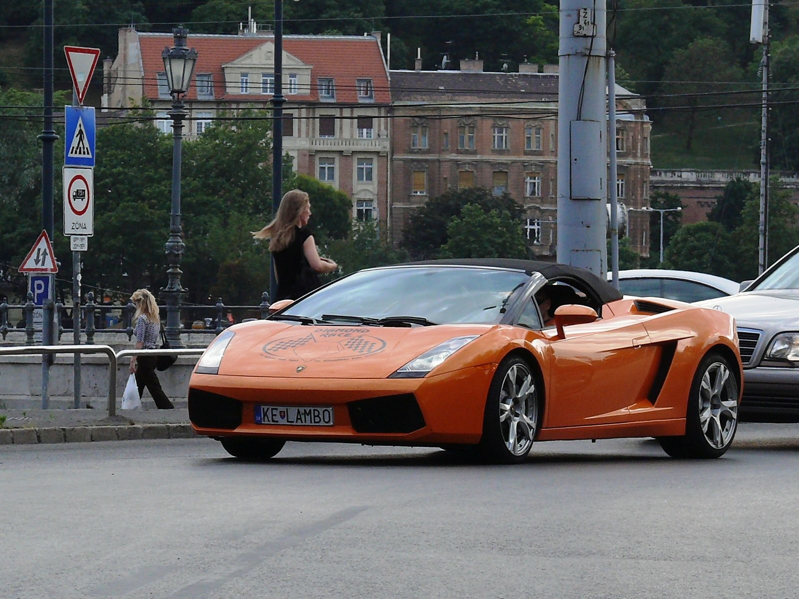
[[[484,458],[518,464],[527,458],[539,432],[542,387],[529,363],[511,355],[497,368],[488,389],[479,450]]]

